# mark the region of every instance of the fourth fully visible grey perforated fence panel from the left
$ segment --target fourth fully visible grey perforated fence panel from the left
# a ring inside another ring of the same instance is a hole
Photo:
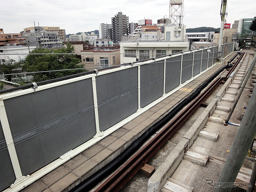
[[[168,93],[180,85],[181,56],[166,59],[165,92]]]

